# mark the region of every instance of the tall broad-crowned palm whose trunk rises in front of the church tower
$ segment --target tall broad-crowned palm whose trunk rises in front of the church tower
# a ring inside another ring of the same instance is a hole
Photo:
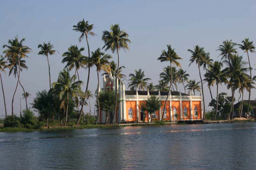
[[[131,41],[128,39],[128,34],[124,31],[121,30],[118,24],[111,25],[110,26],[110,31],[103,31],[102,33],[102,38],[101,38],[105,45],[103,48],[107,51],[110,49],[112,53],[117,53],[117,70],[116,74],[118,74],[119,70],[119,50],[121,48],[124,49],[124,51],[127,49],[129,50],[129,46],[127,43],[131,43]],[[115,113],[116,113],[116,105],[117,105],[117,81],[118,78],[116,76],[116,99],[115,99],[115,109],[114,109],[114,115],[112,117],[112,122],[114,121]]]

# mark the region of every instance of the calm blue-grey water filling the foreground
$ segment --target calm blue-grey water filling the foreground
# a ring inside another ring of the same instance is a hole
[[[0,169],[255,169],[256,123],[0,133]]]

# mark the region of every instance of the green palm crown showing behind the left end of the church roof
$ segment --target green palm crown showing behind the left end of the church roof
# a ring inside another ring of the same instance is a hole
[[[128,80],[128,88],[131,90],[135,90],[137,88],[145,90],[145,87],[147,87],[147,81],[151,80],[151,78],[145,78],[144,71],[141,69],[134,70],[135,74],[129,74],[130,79]]]

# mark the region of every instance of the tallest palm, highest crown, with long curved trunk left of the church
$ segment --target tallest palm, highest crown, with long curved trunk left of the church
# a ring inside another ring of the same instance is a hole
[[[96,33],[92,32],[93,24],[89,25],[89,22],[88,21],[85,22],[84,18],[83,18],[83,20],[79,21],[76,26],[74,25],[73,28],[74,28],[73,29],[74,31],[82,33],[78,39],[79,42],[81,42],[83,40],[84,35],[85,35],[85,39],[87,42],[87,48],[88,48],[88,58],[90,59],[90,47],[89,47],[88,35],[92,35],[92,36],[97,35]],[[86,83],[86,88],[85,88],[85,92],[84,92],[85,94],[88,91],[89,79],[90,79],[90,66],[87,65],[87,68],[88,68],[88,77],[87,77],[87,83]],[[85,101],[83,101],[83,102],[85,102]],[[81,106],[81,110],[80,110],[79,116],[77,118],[76,124],[78,124],[81,119],[83,108],[84,108],[84,104]]]

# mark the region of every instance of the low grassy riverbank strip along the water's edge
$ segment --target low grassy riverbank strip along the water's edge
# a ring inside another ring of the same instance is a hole
[[[219,120],[219,121],[209,121],[207,123],[236,123],[236,122],[255,122],[254,119],[246,119],[246,120]],[[184,125],[188,124],[185,122],[160,122],[157,121],[155,123],[114,123],[114,124],[88,124],[88,125],[78,125],[78,126],[49,126],[48,128],[43,127],[40,129],[26,129],[26,128],[0,128],[0,132],[19,132],[19,131],[36,131],[36,130],[72,130],[72,129],[93,129],[93,128],[117,128],[117,127],[127,127],[127,126],[160,126],[160,125]],[[200,123],[201,124],[201,123]]]

